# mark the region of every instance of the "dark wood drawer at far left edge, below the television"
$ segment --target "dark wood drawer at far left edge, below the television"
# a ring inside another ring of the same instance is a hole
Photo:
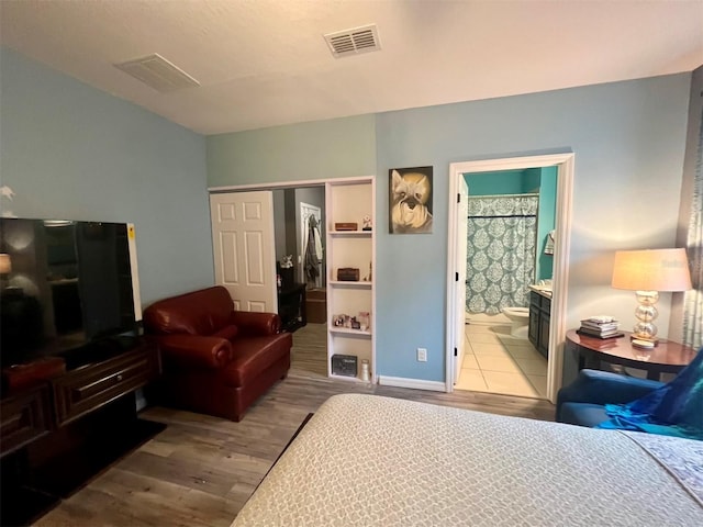
[[[2,400],[0,456],[10,453],[49,431],[49,388],[48,384],[44,384]]]

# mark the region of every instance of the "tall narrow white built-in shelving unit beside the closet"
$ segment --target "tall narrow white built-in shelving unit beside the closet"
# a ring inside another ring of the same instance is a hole
[[[339,179],[326,183],[327,203],[327,373],[335,379],[361,380],[361,363],[369,363],[369,381],[376,382],[376,181],[373,177]],[[364,217],[371,217],[371,231],[361,231]],[[356,223],[358,231],[336,231],[335,223]],[[359,270],[358,281],[337,280],[339,268]],[[366,329],[335,326],[341,315],[369,314]],[[357,358],[357,375],[332,371],[335,355]]]

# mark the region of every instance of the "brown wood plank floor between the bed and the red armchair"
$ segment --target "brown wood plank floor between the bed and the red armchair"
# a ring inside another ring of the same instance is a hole
[[[451,394],[291,373],[241,423],[164,407],[143,418],[167,428],[122,458],[34,525],[228,526],[310,412],[338,393],[370,393],[551,421],[545,401],[478,392]]]

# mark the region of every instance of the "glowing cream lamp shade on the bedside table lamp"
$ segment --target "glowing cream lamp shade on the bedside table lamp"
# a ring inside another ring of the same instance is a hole
[[[612,284],[628,291],[688,291],[691,273],[685,249],[618,250]]]

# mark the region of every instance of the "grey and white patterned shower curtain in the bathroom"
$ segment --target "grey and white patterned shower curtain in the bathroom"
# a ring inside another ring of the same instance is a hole
[[[528,305],[534,282],[538,194],[469,198],[466,307],[495,315]]]

